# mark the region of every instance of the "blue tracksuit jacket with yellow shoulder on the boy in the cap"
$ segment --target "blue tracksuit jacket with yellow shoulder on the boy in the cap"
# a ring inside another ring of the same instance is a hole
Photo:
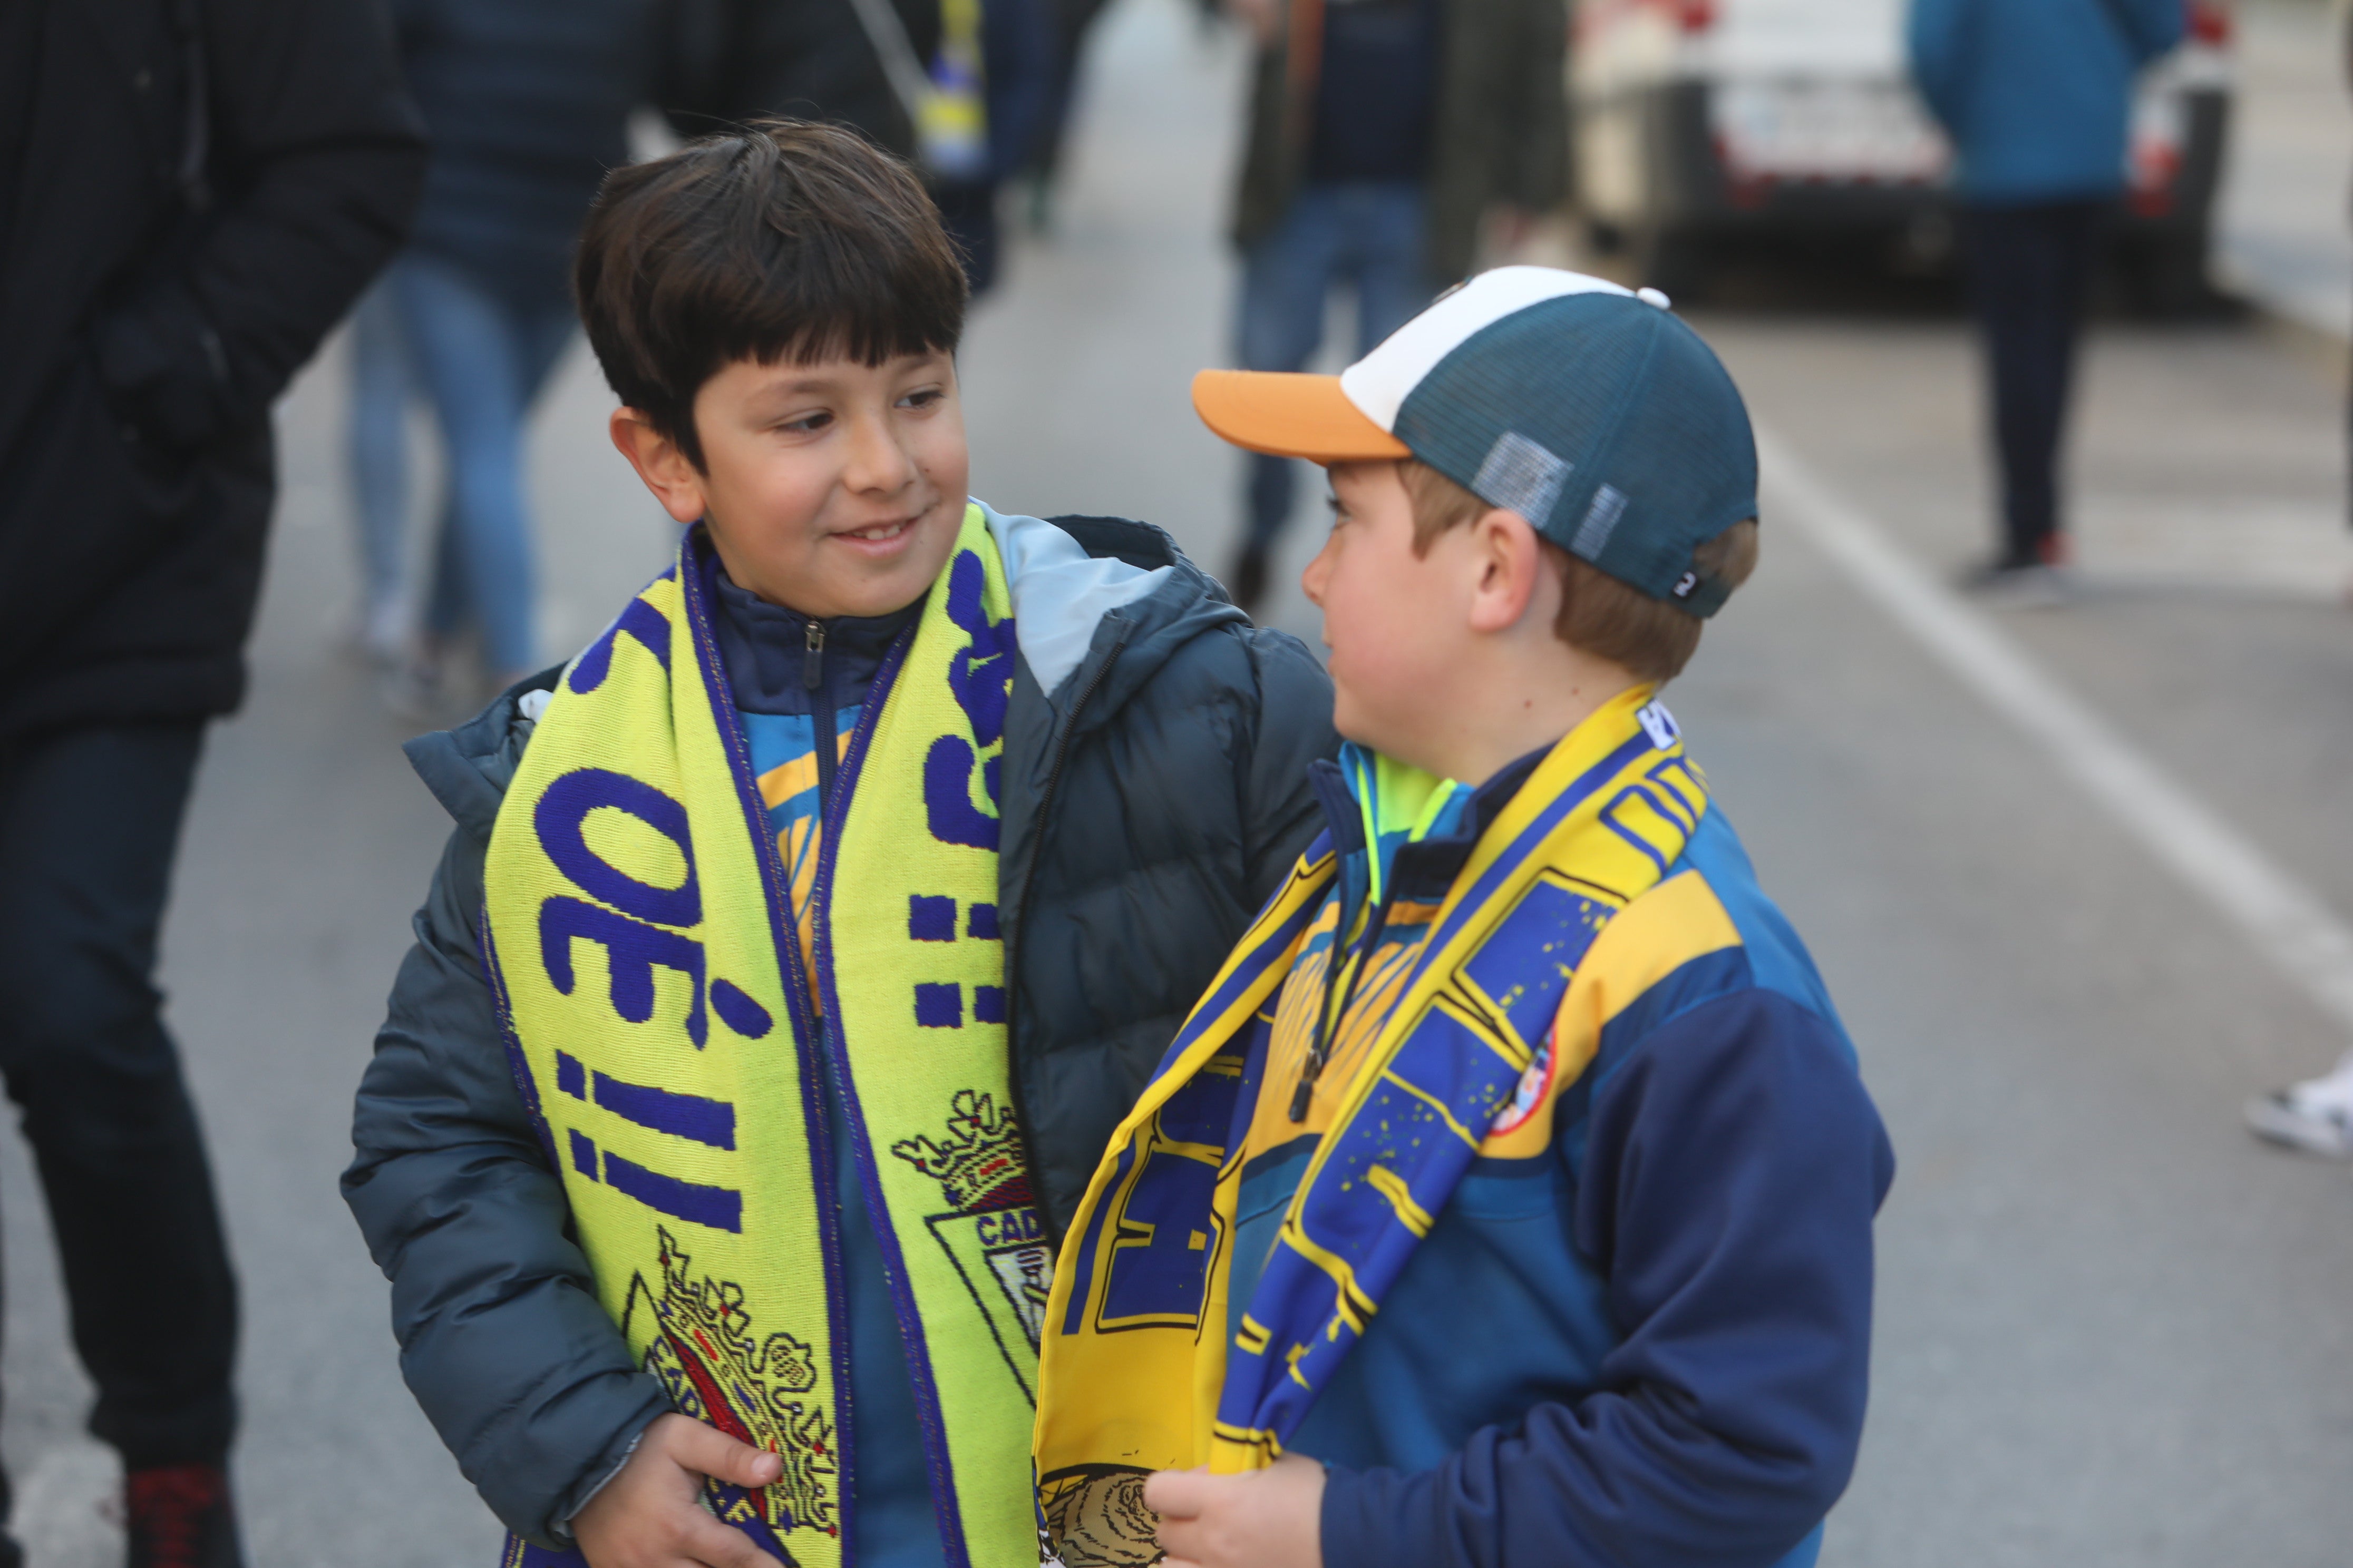
[[[1539,757],[1398,849],[1391,896],[1435,903]],[[1548,1152],[1473,1164],[1289,1443],[1327,1465],[1334,1568],[1819,1552],[1861,1439],[1894,1152],[1722,809],[1612,933],[1661,978],[1602,1027]],[[1233,1312],[1311,1154],[1242,1180]]]

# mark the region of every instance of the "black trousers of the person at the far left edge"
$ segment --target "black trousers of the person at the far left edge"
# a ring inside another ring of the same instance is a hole
[[[89,1429],[129,1467],[216,1462],[235,1427],[238,1286],[155,990],[202,738],[172,722],[0,745],[0,1074],[99,1387]]]

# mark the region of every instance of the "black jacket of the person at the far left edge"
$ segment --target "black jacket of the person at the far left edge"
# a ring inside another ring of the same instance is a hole
[[[369,0],[0,5],[0,741],[242,701],[271,402],[424,167]]]

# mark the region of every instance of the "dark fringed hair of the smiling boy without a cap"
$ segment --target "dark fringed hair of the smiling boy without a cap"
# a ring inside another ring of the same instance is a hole
[[[807,120],[758,120],[607,174],[572,294],[614,395],[696,468],[694,395],[727,364],[955,353],[967,299],[915,172]]]

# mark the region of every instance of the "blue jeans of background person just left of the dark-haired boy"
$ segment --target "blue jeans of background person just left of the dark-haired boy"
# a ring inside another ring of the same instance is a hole
[[[532,628],[532,517],[522,498],[522,428],[572,341],[572,301],[518,301],[440,256],[391,270],[409,357],[449,454],[449,496],[433,552],[426,630],[482,628],[482,661],[506,677],[539,663]]]

